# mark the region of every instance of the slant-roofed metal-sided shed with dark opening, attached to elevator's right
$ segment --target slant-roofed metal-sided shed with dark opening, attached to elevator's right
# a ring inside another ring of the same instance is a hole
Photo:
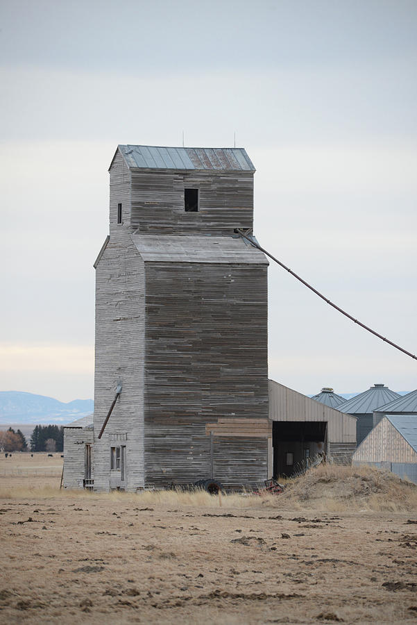
[[[272,473],[291,475],[307,458],[326,453],[349,463],[356,447],[356,417],[269,380],[272,423]]]

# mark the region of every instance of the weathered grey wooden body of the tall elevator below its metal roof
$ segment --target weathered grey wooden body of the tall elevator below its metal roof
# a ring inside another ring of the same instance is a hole
[[[197,213],[185,212],[185,188],[198,189]],[[252,225],[253,172],[131,169],[116,153],[110,240],[96,263],[94,490],[109,490],[110,447],[119,440],[126,490],[209,478],[206,424],[224,418],[239,419],[245,436],[215,437],[216,476],[225,487],[267,477],[268,437],[244,427],[268,417],[267,261],[232,239]],[[158,238],[142,257],[140,238],[150,235]],[[177,256],[167,254],[164,235]],[[177,237],[187,239],[185,251]]]

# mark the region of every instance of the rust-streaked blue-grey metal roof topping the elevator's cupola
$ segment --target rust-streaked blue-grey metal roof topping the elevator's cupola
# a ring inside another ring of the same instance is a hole
[[[255,172],[255,167],[244,148],[185,148],[128,144],[119,145],[117,149],[130,169]]]

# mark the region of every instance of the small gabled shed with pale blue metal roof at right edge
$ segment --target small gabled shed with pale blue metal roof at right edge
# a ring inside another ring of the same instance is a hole
[[[384,415],[352,461],[388,469],[417,484],[417,415]]]

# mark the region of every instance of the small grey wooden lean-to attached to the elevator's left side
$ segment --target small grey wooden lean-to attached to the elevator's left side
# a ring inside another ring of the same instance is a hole
[[[93,442],[93,415],[87,415],[64,426],[62,485],[65,488],[91,487],[94,480]]]

